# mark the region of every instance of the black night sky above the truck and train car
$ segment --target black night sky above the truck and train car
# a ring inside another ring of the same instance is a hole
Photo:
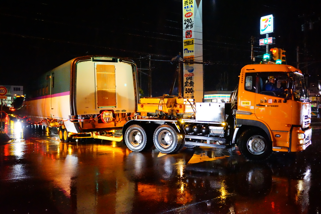
[[[233,90],[240,69],[250,64],[251,36],[259,63],[260,17],[273,14],[275,45],[286,50],[286,63],[309,82],[321,79],[321,1],[203,0],[205,91]],[[169,93],[182,52],[182,1],[6,1],[0,6],[0,85],[27,86],[39,74],[77,56],[108,55],[133,59],[147,68],[152,59],[152,95]],[[305,30],[302,31],[302,25]],[[140,86],[148,95],[146,70]]]

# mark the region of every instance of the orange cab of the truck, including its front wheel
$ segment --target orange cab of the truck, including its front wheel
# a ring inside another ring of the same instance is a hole
[[[239,77],[234,138],[240,152],[261,159],[272,151],[305,150],[311,144],[311,104],[301,71],[250,64]],[[266,87],[272,79],[274,88]]]

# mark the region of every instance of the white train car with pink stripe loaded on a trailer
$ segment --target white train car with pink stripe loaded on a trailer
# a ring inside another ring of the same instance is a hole
[[[136,64],[110,56],[82,56],[30,84],[23,107],[31,124],[57,127],[59,138],[121,141],[115,132],[137,111]]]

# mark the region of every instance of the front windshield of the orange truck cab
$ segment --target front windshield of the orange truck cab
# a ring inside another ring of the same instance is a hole
[[[297,101],[308,101],[309,95],[303,75],[298,72],[291,72],[290,76],[293,78],[294,81],[294,99]]]

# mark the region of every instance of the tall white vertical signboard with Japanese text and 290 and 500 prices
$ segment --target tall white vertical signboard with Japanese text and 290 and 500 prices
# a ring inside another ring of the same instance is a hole
[[[183,0],[183,97],[202,102],[203,24],[202,0]],[[199,64],[198,64],[198,63]]]

